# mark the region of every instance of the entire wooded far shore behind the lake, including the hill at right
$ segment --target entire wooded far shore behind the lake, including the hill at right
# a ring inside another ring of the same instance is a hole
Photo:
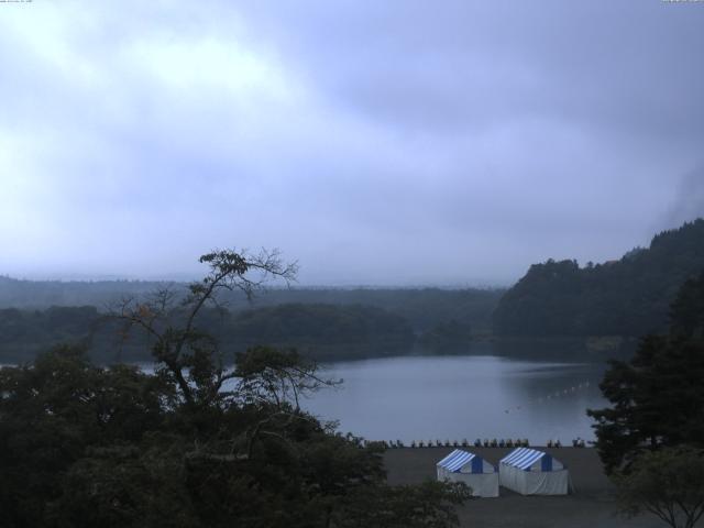
[[[565,359],[632,353],[640,336],[662,332],[679,287],[704,270],[704,220],[657,234],[620,260],[580,266],[548,260],[512,288],[277,288],[249,302],[222,295],[199,324],[231,351],[296,346],[318,361],[407,353],[498,354],[556,350]],[[29,361],[55,342],[89,345],[99,362],[148,361],[141,338],[118,339],[106,311],[125,298],[183,283],[32,282],[0,277],[0,358]],[[531,344],[532,343],[532,344]],[[553,354],[554,355],[554,354]]]

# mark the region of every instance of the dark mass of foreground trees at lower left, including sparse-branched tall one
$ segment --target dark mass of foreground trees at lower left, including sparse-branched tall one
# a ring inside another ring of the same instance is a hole
[[[276,254],[201,257],[185,298],[157,292],[114,316],[151,339],[155,375],[61,348],[0,370],[2,525],[24,527],[421,527],[457,525],[463,485],[385,483],[380,446],[300,408],[332,385],[295,351],[234,366],[199,329],[218,293],[293,278]]]

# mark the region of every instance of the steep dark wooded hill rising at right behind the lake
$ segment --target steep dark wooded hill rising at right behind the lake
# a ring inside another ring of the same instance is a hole
[[[642,336],[664,331],[682,284],[704,271],[704,220],[657,234],[648,249],[580,267],[534,264],[493,315],[498,336]]]

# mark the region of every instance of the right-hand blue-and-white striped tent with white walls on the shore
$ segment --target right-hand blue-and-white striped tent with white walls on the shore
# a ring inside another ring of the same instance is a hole
[[[499,481],[521,495],[566,495],[570,474],[551,454],[518,448],[501,460]]]

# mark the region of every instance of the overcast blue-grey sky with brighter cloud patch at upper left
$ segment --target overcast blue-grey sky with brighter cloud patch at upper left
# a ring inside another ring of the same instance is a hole
[[[502,285],[704,212],[704,2],[0,3],[0,274]]]

